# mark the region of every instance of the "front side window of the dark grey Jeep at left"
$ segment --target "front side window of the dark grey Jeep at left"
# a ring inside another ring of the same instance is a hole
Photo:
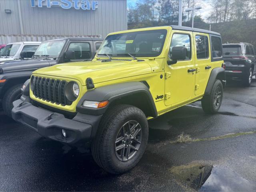
[[[74,51],[75,59],[90,59],[90,44],[86,42],[72,42],[69,44],[68,51]]]

